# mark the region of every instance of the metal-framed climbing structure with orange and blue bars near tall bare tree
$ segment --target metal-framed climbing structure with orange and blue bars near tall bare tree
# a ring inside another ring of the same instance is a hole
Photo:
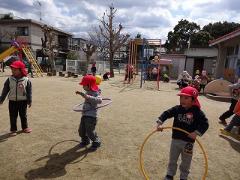
[[[154,51],[159,48],[158,57],[151,63],[150,57],[154,56]],[[136,75],[141,70],[140,88],[146,79],[151,79],[153,76],[157,82],[157,89],[160,85],[161,68],[166,67],[168,70],[172,65],[172,61],[168,59],[160,58],[161,52],[161,40],[160,39],[134,39],[129,42],[129,59],[125,68],[124,82],[132,83]],[[152,72],[155,72],[153,75]],[[150,78],[149,78],[150,77]]]

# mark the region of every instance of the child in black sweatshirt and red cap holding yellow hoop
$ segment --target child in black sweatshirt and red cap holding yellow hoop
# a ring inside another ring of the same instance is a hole
[[[173,117],[173,127],[181,128],[189,132],[190,135],[177,130],[172,131],[170,157],[165,180],[172,180],[175,176],[180,154],[182,157],[179,167],[180,180],[188,178],[196,136],[202,136],[209,126],[208,119],[200,110],[200,103],[197,98],[198,91],[187,86],[178,95],[180,96],[180,105],[174,106],[161,114],[157,120],[157,130],[162,131],[162,124]]]

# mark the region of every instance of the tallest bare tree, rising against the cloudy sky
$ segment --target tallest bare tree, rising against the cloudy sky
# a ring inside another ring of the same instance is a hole
[[[113,71],[113,58],[115,52],[124,45],[124,43],[130,37],[128,34],[121,34],[123,30],[123,26],[121,24],[118,27],[114,27],[113,19],[117,12],[117,9],[114,8],[113,4],[109,6],[109,13],[104,13],[102,20],[100,20],[101,24],[99,25],[99,29],[101,35],[106,40],[107,49],[109,54],[109,64],[110,64],[110,76],[114,77]],[[106,19],[107,17],[107,19]]]

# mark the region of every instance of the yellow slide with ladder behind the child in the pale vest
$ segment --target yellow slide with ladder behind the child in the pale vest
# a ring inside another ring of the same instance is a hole
[[[22,52],[25,54],[29,65],[32,65],[32,68],[37,77],[43,76],[43,71],[41,67],[37,64],[37,61],[34,59],[31,49],[26,45],[26,43],[19,43],[17,41],[12,42],[12,46],[0,54],[0,62],[2,62],[6,57],[18,52],[19,59],[22,60]]]

